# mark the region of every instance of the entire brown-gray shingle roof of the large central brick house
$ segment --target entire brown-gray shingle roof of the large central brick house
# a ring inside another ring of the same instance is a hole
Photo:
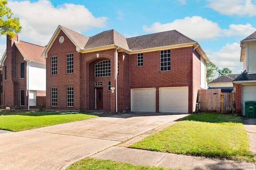
[[[127,50],[140,50],[196,42],[176,30],[148,34],[133,38],[125,38],[115,30],[108,30],[89,38],[63,26],[60,27],[66,32],[66,34],[68,34],[73,42],[80,47],[80,49],[118,45]]]

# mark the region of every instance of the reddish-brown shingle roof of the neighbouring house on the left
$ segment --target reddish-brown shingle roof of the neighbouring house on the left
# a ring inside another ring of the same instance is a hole
[[[41,57],[45,47],[40,45],[35,45],[32,43],[27,43],[23,41],[14,42],[24,60],[38,61],[45,63],[45,59]]]

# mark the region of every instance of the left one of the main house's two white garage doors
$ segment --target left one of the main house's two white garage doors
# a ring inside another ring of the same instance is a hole
[[[132,111],[156,112],[156,89],[131,89]]]

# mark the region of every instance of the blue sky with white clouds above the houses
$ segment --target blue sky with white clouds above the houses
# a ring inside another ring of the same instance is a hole
[[[256,0],[8,0],[20,40],[45,46],[58,25],[84,36],[116,30],[125,38],[177,30],[210,61],[240,74],[240,41],[256,31]],[[0,56],[6,36],[0,36]]]

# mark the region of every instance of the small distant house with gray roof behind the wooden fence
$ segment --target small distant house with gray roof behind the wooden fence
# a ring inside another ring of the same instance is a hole
[[[221,92],[232,92],[234,90],[233,80],[240,74],[221,75],[208,83],[209,89],[221,89]]]

